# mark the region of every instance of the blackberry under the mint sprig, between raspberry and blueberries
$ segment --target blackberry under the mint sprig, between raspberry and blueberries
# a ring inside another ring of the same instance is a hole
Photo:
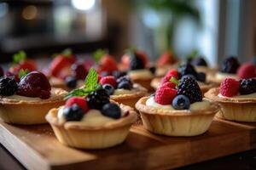
[[[88,94],[86,101],[90,109],[101,110],[103,105],[109,103],[109,95],[105,89],[100,88]]]

